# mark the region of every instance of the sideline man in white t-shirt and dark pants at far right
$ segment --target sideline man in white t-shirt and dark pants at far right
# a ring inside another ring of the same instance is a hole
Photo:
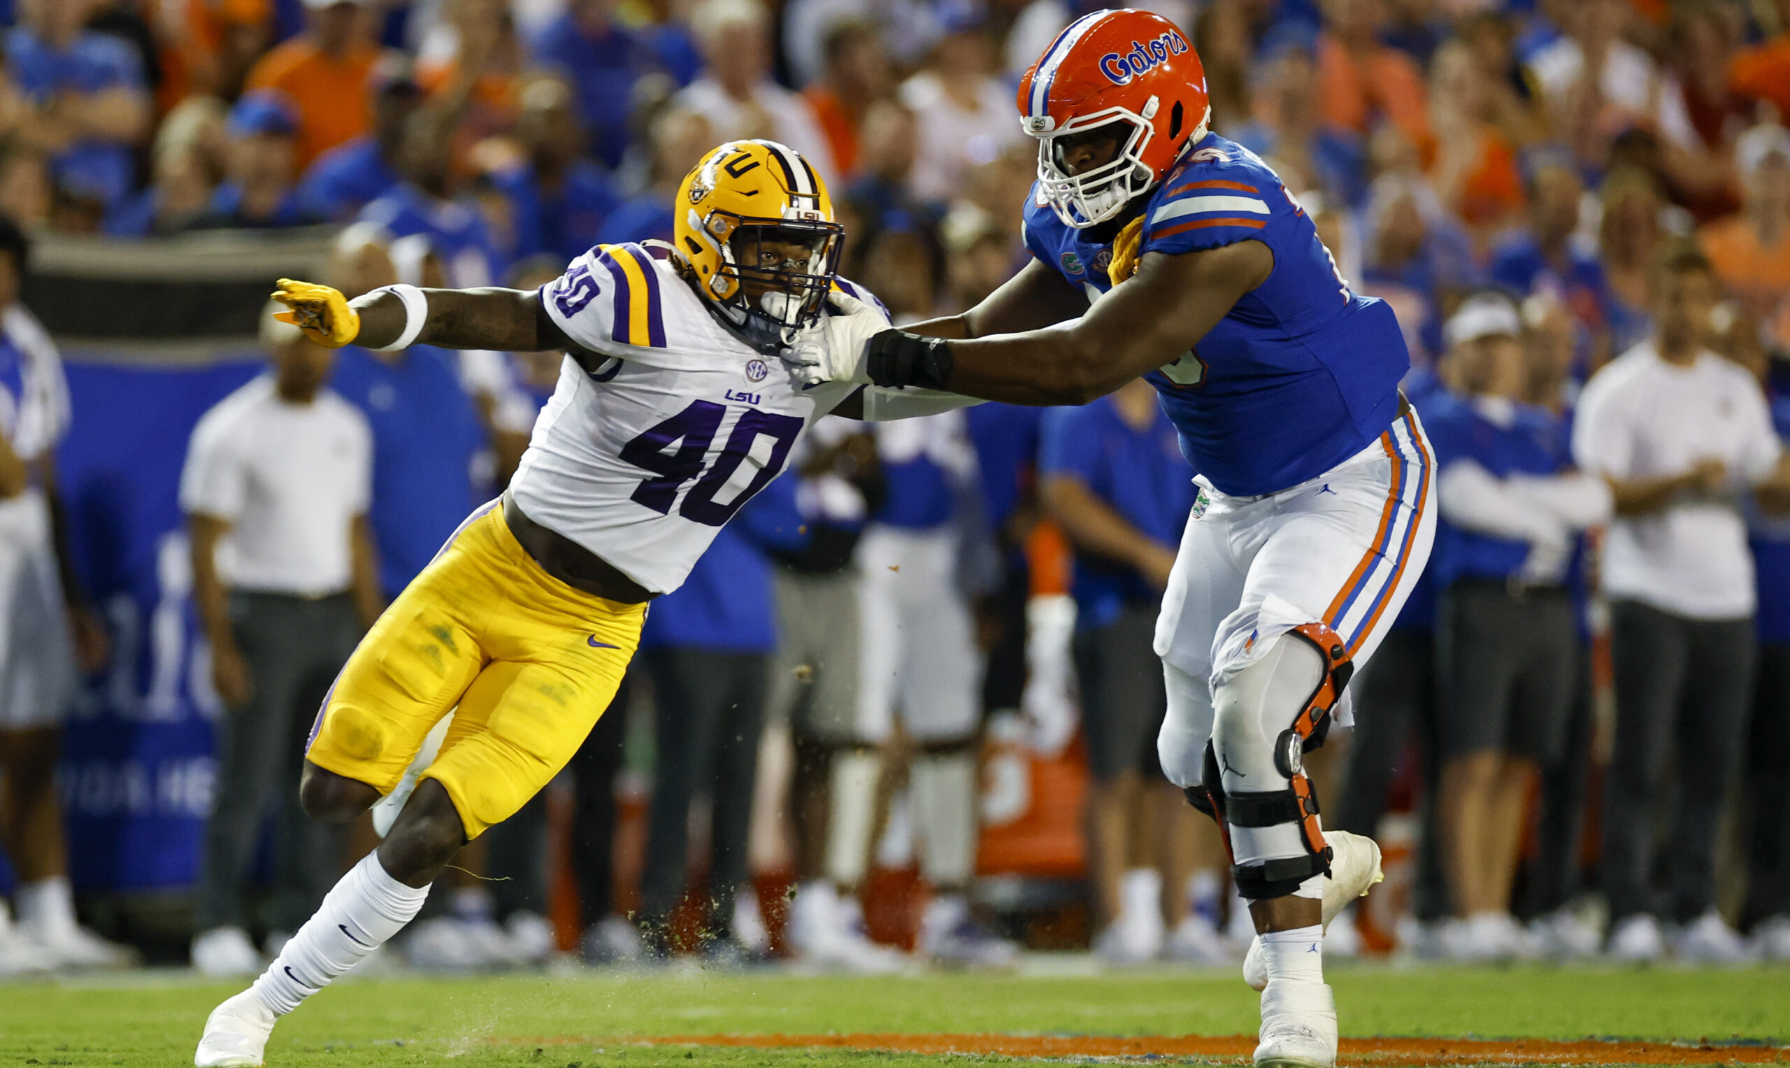
[[[1790,484],[1790,453],[1758,382],[1708,349],[1720,285],[1695,247],[1663,245],[1650,281],[1654,339],[1584,387],[1573,459],[1615,496],[1604,543],[1616,735],[1604,801],[1607,952],[1738,960],[1715,910],[1715,849],[1738,771],[1756,663],[1752,556],[1738,500]],[[1658,900],[1654,806],[1675,771]]]

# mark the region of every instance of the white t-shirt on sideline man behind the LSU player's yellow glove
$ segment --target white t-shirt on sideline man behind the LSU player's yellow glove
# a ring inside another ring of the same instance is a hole
[[[193,426],[181,511],[231,523],[218,575],[231,590],[324,597],[353,579],[351,527],[372,496],[372,430],[324,389],[308,405],[261,375]]]

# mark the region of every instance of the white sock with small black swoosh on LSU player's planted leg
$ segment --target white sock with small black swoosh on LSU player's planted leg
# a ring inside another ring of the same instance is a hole
[[[428,896],[428,887],[406,887],[378,853],[367,853],[249,989],[274,1016],[292,1012],[403,930]]]

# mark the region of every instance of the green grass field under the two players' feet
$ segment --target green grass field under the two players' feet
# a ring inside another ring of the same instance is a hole
[[[1790,1043],[1790,969],[1334,968],[1344,1036],[1754,1039]],[[179,1066],[234,986],[179,973],[0,986],[0,1068]],[[342,982],[281,1021],[277,1068],[399,1064],[882,1064],[911,1054],[652,1046],[653,1036],[1001,1032],[1242,1034],[1255,995],[1235,975],[707,973]],[[1776,1041],[1772,1041],[1776,1039]],[[974,1057],[1001,1061],[1004,1057]],[[1785,1054],[1790,1061],[1790,1052]]]

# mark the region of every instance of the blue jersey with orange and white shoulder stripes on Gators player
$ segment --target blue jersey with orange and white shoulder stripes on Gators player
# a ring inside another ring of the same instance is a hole
[[[1385,432],[1411,355],[1393,308],[1350,289],[1274,170],[1208,134],[1151,194],[1142,253],[1240,240],[1274,253],[1267,281],[1147,380],[1187,462],[1219,491],[1255,496],[1316,478]],[[1063,226],[1036,190],[1026,245],[1090,301],[1112,289],[1112,245]]]

